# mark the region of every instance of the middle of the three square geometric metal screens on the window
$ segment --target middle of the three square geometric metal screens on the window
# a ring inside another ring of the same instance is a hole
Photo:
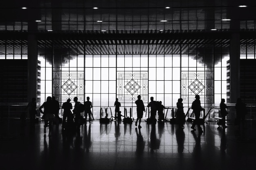
[[[117,71],[117,98],[119,102],[134,103],[137,96],[148,99],[148,71]]]

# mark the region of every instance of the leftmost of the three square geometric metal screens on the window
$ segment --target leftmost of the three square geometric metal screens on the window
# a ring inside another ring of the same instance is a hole
[[[78,97],[78,100],[83,102],[83,71],[54,71],[53,73],[53,95],[59,102],[66,102],[68,98],[73,100],[74,97]]]

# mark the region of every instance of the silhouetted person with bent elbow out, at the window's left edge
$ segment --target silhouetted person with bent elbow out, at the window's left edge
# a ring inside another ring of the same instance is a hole
[[[42,110],[44,108],[44,111]],[[48,126],[49,122],[49,136],[52,135],[52,121],[54,118],[53,114],[53,106],[52,106],[52,97],[48,96],[46,99],[46,102],[40,106],[39,110],[41,113],[44,115],[44,120],[45,120],[45,126],[44,126],[44,133],[46,133],[46,127]]]

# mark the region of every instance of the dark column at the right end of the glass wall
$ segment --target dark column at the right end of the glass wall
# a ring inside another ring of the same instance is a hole
[[[234,33],[230,41],[230,103],[240,97],[240,35]]]

